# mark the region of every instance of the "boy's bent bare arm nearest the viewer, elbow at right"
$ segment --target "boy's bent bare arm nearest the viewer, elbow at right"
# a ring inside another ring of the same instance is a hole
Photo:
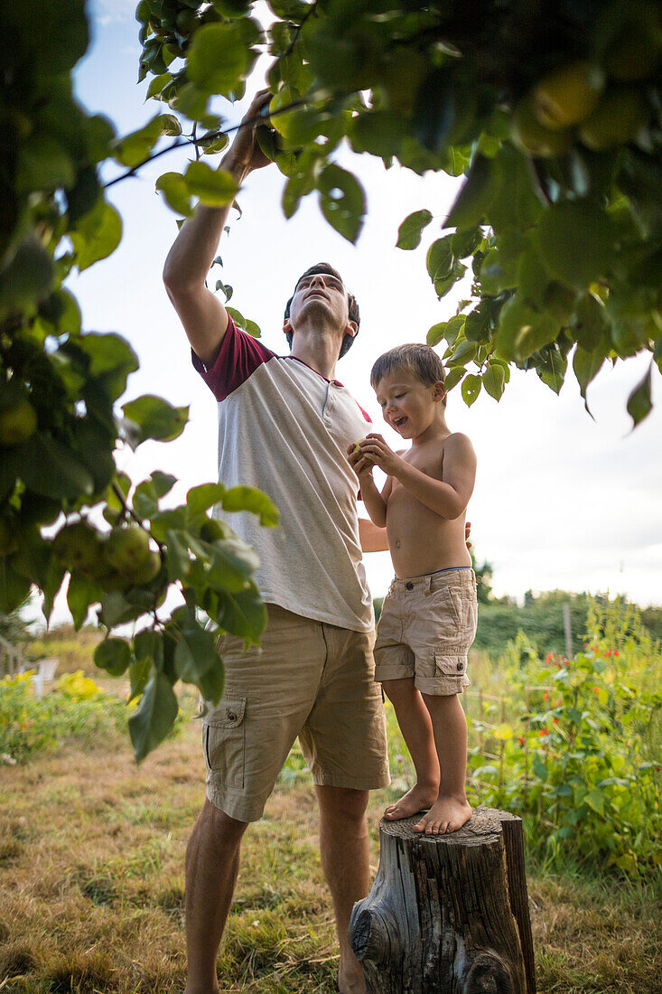
[[[361,443],[361,453],[389,476],[395,476],[421,504],[441,518],[451,521],[459,518],[469,503],[476,478],[476,453],[467,436],[460,432],[446,438],[440,480],[402,459],[382,435],[367,435]]]

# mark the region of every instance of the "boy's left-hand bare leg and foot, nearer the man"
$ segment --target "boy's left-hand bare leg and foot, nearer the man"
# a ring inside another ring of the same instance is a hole
[[[389,804],[384,812],[384,817],[388,820],[399,821],[401,818],[410,818],[434,803],[439,793],[439,761],[429,712],[414,687],[414,677],[385,680],[382,686],[396,709],[400,731],[410,750],[416,772],[416,782],[412,789],[395,804]]]

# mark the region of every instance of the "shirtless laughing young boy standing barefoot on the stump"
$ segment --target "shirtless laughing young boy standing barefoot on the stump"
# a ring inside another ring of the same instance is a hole
[[[466,435],[446,425],[443,366],[428,345],[392,349],[370,379],[384,419],[412,442],[394,452],[382,435],[369,434],[348,452],[368,514],[386,526],[396,571],[377,631],[375,679],[396,709],[416,782],[385,817],[428,808],[414,831],[454,832],[471,817],[466,719],[457,695],[469,685],[467,651],[477,621],[464,536],[476,456]],[[381,493],[374,466],[388,474]]]

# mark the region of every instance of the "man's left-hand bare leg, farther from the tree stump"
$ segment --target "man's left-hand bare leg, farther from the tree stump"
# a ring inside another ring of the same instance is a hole
[[[248,825],[205,800],[186,850],[185,994],[218,994],[216,960],[239,873]]]

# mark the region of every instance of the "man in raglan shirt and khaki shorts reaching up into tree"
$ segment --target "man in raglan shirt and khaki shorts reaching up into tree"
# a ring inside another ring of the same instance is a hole
[[[265,106],[258,94],[245,120]],[[245,126],[223,168],[240,183],[268,160]],[[187,850],[186,994],[219,990],[216,959],[248,822],[261,816],[298,736],[320,807],[322,866],[340,945],[338,988],[366,990],[347,939],[352,907],[369,887],[369,789],[389,782],[381,695],[374,683],[373,617],[361,564],[357,480],[346,451],[365,435],[364,414],[334,379],[358,332],[356,302],[326,263],[298,280],[283,331],[291,354],[274,355],[240,332],[205,287],[229,208],[199,208],[164,268],[168,295],[194,365],[219,401],[220,477],[264,490],[277,529],[234,515],[260,557],[267,604],[261,654],[224,636],[226,692],[204,718],[207,799]],[[365,523],[369,526],[369,523]],[[365,526],[364,526],[365,527]],[[385,548],[366,528],[367,551]]]

